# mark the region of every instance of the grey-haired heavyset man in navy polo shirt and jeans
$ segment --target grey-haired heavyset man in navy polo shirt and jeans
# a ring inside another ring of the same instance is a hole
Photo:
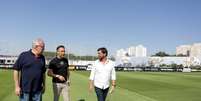
[[[20,54],[14,64],[15,94],[20,101],[42,101],[45,91],[44,41],[36,39],[32,49]]]

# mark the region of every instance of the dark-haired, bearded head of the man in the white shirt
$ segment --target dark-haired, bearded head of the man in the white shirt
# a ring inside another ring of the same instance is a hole
[[[107,51],[107,49],[105,47],[99,48],[97,51],[98,51],[99,60],[107,58],[108,51]]]

